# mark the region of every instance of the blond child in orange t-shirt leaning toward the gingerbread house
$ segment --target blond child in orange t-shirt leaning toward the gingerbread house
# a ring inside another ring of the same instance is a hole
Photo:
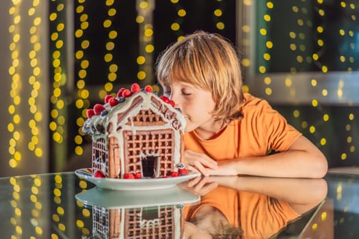
[[[239,57],[222,36],[186,36],[156,67],[165,96],[186,118],[186,165],[203,175],[322,178],[327,172],[313,143],[268,102],[243,94]]]

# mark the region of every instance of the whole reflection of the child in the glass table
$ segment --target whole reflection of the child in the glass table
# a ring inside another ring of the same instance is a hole
[[[210,177],[192,183],[188,189],[202,197],[187,210],[188,238],[273,238],[327,193],[321,179]]]

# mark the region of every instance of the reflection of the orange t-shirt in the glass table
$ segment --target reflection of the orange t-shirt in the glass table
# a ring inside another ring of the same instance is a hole
[[[241,228],[242,238],[270,238],[300,216],[285,201],[259,193],[218,187],[201,197],[200,204],[186,207],[185,219],[194,219],[202,206],[220,210],[230,226]]]

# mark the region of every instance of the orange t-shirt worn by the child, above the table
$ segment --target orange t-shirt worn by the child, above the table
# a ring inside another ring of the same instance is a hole
[[[244,94],[244,97],[242,119],[230,122],[215,139],[202,140],[196,132],[186,132],[185,150],[207,154],[214,160],[264,156],[270,150],[288,150],[302,135],[266,100],[250,94]]]

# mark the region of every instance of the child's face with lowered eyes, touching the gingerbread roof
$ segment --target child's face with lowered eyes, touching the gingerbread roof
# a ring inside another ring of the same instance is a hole
[[[213,126],[215,121],[211,112],[215,109],[215,102],[211,92],[181,81],[174,81],[172,85],[162,85],[162,87],[164,95],[173,100],[175,108],[181,109],[185,116],[186,132]]]

